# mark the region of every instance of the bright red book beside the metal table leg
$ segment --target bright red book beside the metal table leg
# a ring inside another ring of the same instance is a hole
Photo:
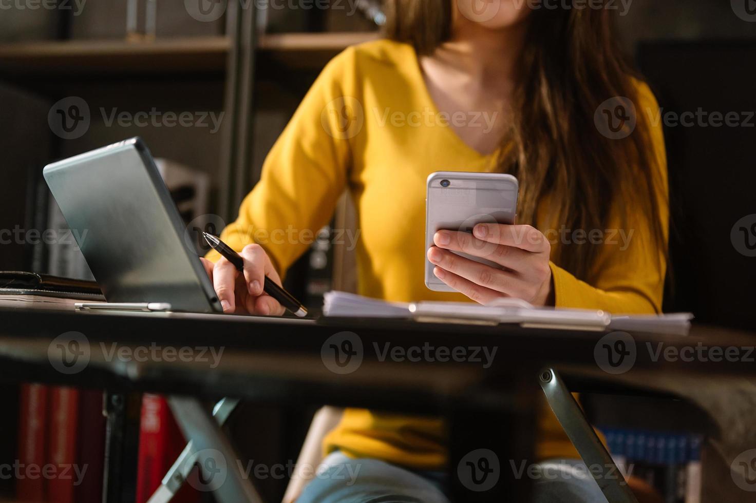
[[[186,446],[165,398],[145,394],[142,397],[139,428],[139,455],[137,464],[136,503],[146,503],[160,481],[166,476],[173,461]],[[200,500],[199,492],[188,484],[175,495],[172,503],[191,503]]]

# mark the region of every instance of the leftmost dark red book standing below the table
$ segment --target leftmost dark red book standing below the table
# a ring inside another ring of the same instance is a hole
[[[21,384],[18,433],[18,461],[21,471],[16,485],[19,501],[45,501],[45,479],[41,476],[46,462],[48,387],[44,384]],[[30,467],[37,472],[32,477]]]

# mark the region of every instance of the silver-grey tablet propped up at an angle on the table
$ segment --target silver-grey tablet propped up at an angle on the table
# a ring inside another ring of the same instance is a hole
[[[139,138],[54,162],[43,174],[108,302],[160,302],[172,310],[222,313]]]

